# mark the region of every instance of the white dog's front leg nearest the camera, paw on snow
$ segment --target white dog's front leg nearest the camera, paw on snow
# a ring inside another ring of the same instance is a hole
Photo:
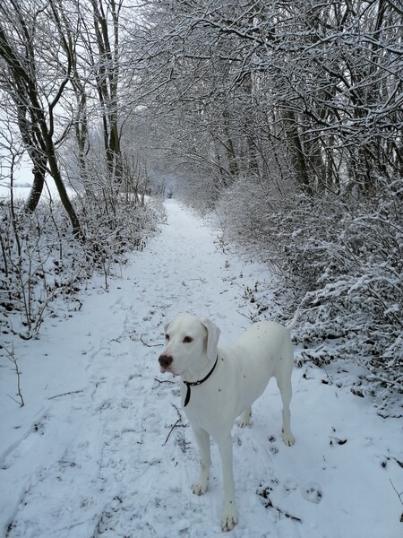
[[[222,509],[221,527],[223,531],[231,531],[238,523],[236,513],[235,482],[232,456],[231,432],[223,438],[216,439],[222,463],[224,482],[224,506]]]

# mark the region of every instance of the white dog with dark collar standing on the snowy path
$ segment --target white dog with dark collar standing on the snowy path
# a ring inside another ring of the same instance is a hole
[[[218,348],[219,327],[210,320],[184,314],[165,325],[167,348],[159,357],[161,372],[181,376],[182,404],[201,456],[201,474],[193,493],[207,490],[210,471],[210,436],[219,446],[224,482],[222,529],[238,521],[233,473],[231,430],[236,417],[243,428],[252,404],[262,395],[270,377],[276,377],[283,400],[283,440],[294,444],[290,429],[293,348],[289,331],[271,321],[253,324],[229,345]]]

